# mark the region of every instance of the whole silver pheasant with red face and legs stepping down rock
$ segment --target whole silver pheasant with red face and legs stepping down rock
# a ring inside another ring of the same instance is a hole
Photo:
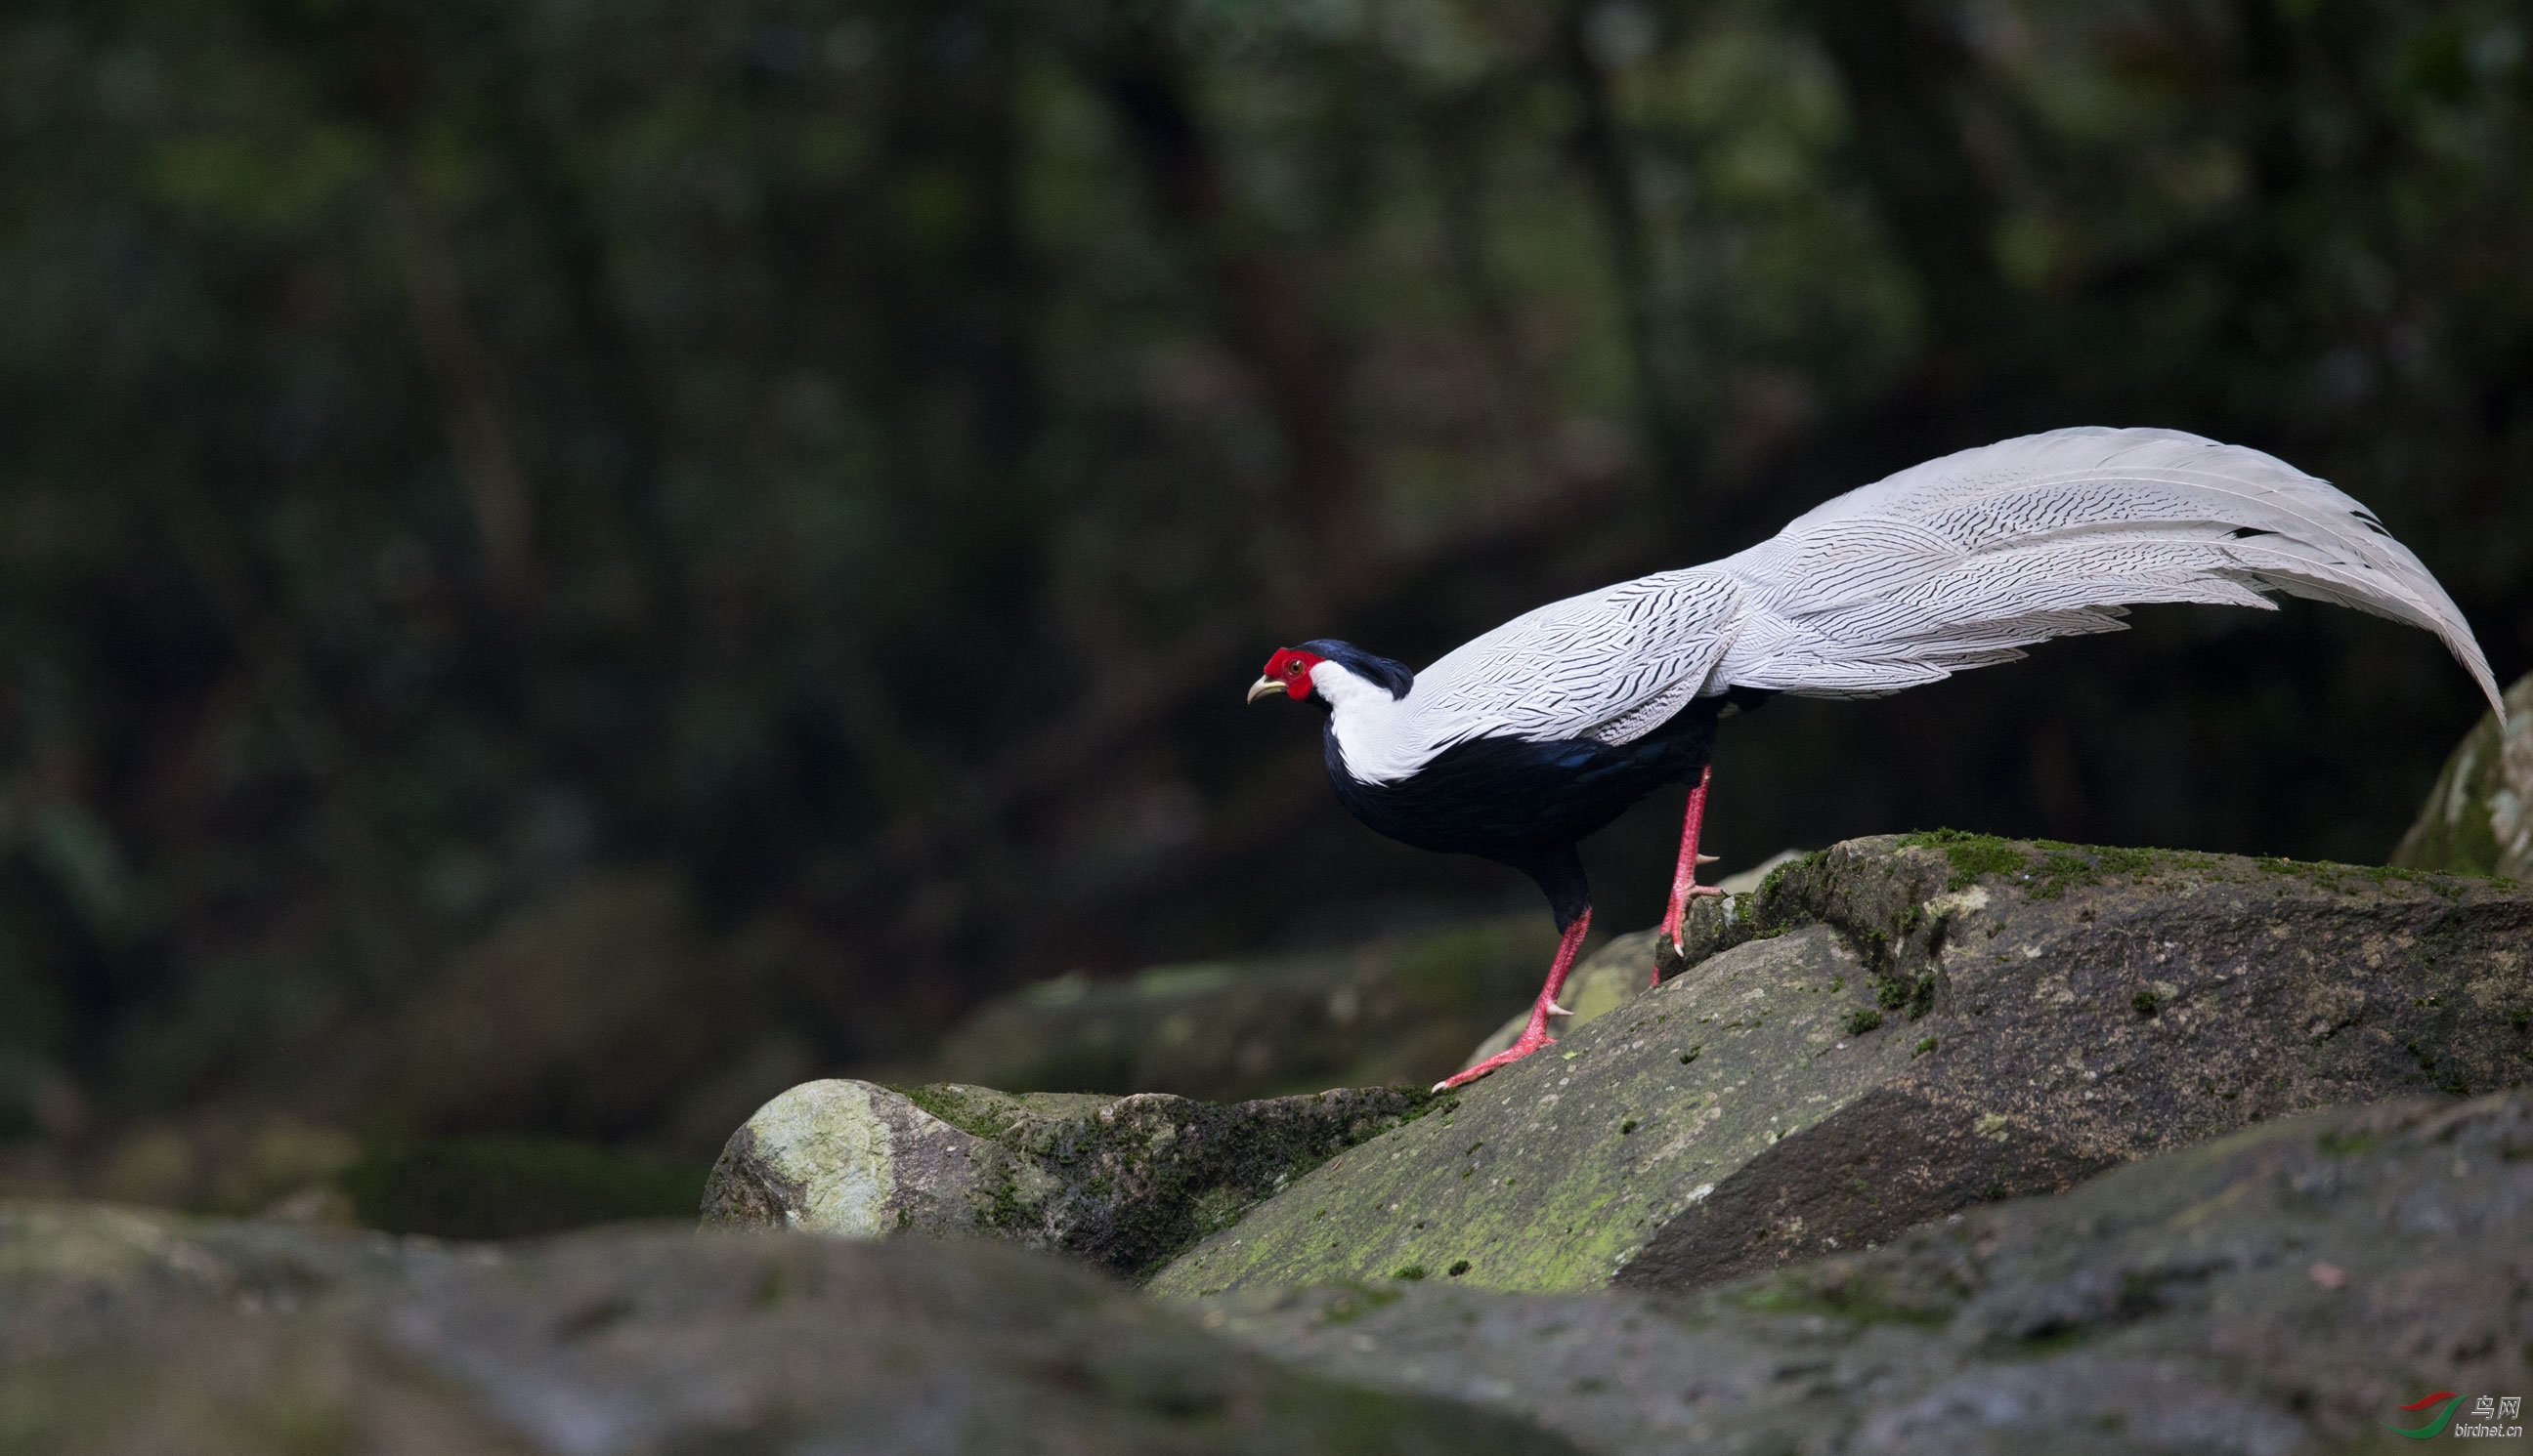
[[[1335,641],[1282,648],[1269,691],[1327,706],[1337,798],[1373,828],[1532,874],[1565,929],[1530,1031],[1591,922],[1573,843],[1692,782],[1664,919],[1695,884],[1707,750],[1728,701],[1879,696],[2110,633],[2135,603],[2275,610],[2267,593],[2427,628],[2490,699],[2452,598],[2366,506],[2244,446],[2072,428],[1961,451],[1836,496],[1702,567],[1548,603],[1424,671]]]

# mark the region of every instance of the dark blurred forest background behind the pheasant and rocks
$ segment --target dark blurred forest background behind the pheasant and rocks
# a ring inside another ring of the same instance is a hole
[[[1317,724],[1241,709],[1274,646],[1421,663],[2039,428],[2338,481],[2513,679],[2528,41],[2500,0],[18,0],[0,1175],[709,1157],[1021,982],[1530,912],[1337,810]],[[1735,719],[1722,869],[1925,825],[2373,863],[2480,714],[2353,613],[2135,628]],[[1674,808],[1591,846],[1603,924],[1659,912]]]

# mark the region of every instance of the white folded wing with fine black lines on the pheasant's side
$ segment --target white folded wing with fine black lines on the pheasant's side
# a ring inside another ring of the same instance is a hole
[[[1401,729],[1424,757],[1474,737],[1629,742],[1705,689],[1738,618],[1715,567],[1548,603],[1418,671]]]

